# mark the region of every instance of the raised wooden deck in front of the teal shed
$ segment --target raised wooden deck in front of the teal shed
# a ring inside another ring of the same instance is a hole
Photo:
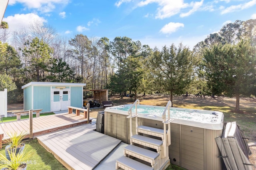
[[[83,115],[76,116],[75,114],[68,113],[36,117],[33,118],[33,137],[85,123],[87,123],[87,119],[84,119]],[[29,119],[0,123],[1,132],[4,134],[3,140],[8,139],[8,134],[14,132],[25,132],[28,134],[26,136],[28,138],[30,132]]]

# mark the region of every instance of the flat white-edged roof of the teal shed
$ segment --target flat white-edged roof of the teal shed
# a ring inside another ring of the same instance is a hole
[[[21,88],[24,89],[29,86],[86,86],[86,83],[30,82]]]

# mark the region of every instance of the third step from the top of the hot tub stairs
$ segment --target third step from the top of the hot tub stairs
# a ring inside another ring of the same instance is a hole
[[[159,153],[157,152],[141,147],[136,147],[135,145],[128,145],[127,147],[125,147],[124,153],[144,160],[146,162],[150,162],[151,164],[154,164],[154,160],[156,160],[156,158],[158,158],[159,156]]]

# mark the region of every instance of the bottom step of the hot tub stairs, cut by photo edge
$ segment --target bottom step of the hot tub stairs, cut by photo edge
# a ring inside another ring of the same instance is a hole
[[[153,167],[142,164],[126,156],[122,156],[116,160],[116,169],[118,169],[118,167],[124,170],[154,170]]]

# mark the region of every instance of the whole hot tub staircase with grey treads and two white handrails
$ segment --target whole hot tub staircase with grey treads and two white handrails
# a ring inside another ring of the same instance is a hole
[[[170,106],[169,101],[162,114],[164,129],[157,129],[148,126],[138,126],[137,105],[140,103],[136,100],[130,107],[127,118],[130,119],[130,145],[124,148],[124,156],[116,160],[116,169],[124,170],[162,170],[170,164],[168,146],[171,144],[170,137]],[[135,114],[132,115],[132,107],[135,106]],[[168,119],[166,111],[168,110]],[[132,134],[132,119],[136,119],[136,134]],[[168,125],[168,130],[166,130]]]

